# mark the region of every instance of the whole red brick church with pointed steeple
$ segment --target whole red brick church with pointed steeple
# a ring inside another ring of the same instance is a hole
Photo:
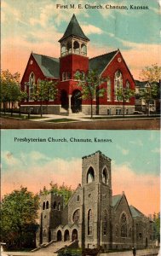
[[[118,88],[135,89],[135,81],[127,67],[119,49],[104,55],[88,57],[88,43],[83,30],[78,24],[76,16],[66,28],[60,38],[60,58],[32,53],[26,65],[21,80],[21,90],[26,90],[28,100],[21,103],[21,110],[39,113],[40,102],[32,100],[33,84],[41,80],[54,80],[58,82],[58,96],[55,101],[43,102],[43,113],[90,113],[90,102],[81,97],[81,87],[74,79],[75,73],[88,73],[96,69],[101,77],[106,78],[103,84],[104,96],[93,101],[94,114],[126,114],[135,110],[135,99],[125,102],[118,100]]]

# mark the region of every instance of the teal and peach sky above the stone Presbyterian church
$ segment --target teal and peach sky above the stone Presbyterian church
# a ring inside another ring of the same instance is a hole
[[[65,138],[51,143],[48,139]],[[91,143],[72,143],[70,138]],[[95,137],[112,142],[95,143]],[[159,131],[4,130],[2,131],[2,196],[25,186],[38,193],[49,183],[76,189],[82,183],[82,157],[101,150],[112,160],[112,194],[124,191],[129,205],[145,214],[159,211]],[[19,142],[23,138],[43,143]]]

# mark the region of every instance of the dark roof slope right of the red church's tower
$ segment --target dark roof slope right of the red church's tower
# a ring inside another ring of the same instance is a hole
[[[105,55],[100,55],[89,59],[89,69],[97,70],[98,73],[101,74],[109,62],[112,61],[112,58],[117,54],[117,52],[118,50],[115,50]]]

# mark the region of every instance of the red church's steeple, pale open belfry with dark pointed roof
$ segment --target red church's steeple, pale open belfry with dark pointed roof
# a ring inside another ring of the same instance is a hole
[[[61,56],[69,54],[87,55],[87,43],[89,42],[89,38],[84,35],[75,15],[72,15],[66,32],[63,37],[60,38],[59,42]]]

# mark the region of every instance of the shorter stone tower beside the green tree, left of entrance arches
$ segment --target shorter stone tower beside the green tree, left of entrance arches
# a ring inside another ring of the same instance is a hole
[[[40,244],[51,241],[51,229],[61,224],[63,211],[63,196],[55,193],[41,195],[40,197]]]

